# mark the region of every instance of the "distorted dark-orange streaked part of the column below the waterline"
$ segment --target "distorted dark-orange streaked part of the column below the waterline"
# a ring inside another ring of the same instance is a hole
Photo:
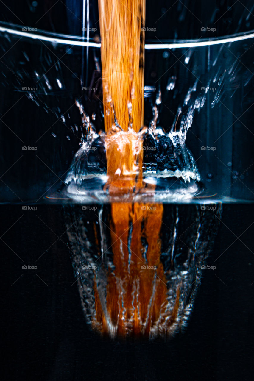
[[[114,328],[117,335],[127,331],[134,335],[149,335],[151,328],[164,323],[166,300],[166,278],[159,259],[161,254],[161,229],[163,206],[131,203],[113,203],[111,239],[114,254],[114,271],[109,271],[107,280],[106,315],[94,283],[96,319],[94,328],[109,333]],[[130,260],[128,235],[132,224]],[[121,237],[121,238],[119,238]],[[146,259],[142,238],[146,240]],[[142,269],[146,266],[146,269]],[[147,266],[156,266],[148,269]],[[179,304],[179,293],[169,323],[174,322]]]

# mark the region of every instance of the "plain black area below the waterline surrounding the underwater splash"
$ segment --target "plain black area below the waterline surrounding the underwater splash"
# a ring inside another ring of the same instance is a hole
[[[151,342],[110,341],[88,330],[68,238],[61,237],[63,207],[37,206],[0,208],[2,379],[253,378],[253,205],[223,206],[207,262],[216,269],[204,271],[188,327]],[[38,269],[24,271],[23,264]]]

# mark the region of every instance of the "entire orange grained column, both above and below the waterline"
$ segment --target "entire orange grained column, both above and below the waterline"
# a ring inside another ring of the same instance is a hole
[[[142,187],[145,0],[98,0],[101,30],[105,146],[110,194],[133,192]],[[128,130],[128,103],[132,103],[133,130]],[[114,104],[119,124],[112,127]],[[137,170],[139,176],[137,180]],[[152,207],[152,208],[150,208]],[[166,319],[166,278],[160,261],[159,238],[163,206],[138,203],[111,204],[111,242],[114,271],[108,272],[106,307],[94,282],[96,317],[93,328],[125,336],[149,335]],[[132,240],[128,242],[132,225]],[[143,239],[146,240],[146,258]],[[129,247],[128,247],[129,245]],[[129,258],[129,253],[131,253]],[[146,266],[144,269],[142,266]],[[156,266],[154,269],[147,266]],[[177,315],[179,295],[168,320]]]

